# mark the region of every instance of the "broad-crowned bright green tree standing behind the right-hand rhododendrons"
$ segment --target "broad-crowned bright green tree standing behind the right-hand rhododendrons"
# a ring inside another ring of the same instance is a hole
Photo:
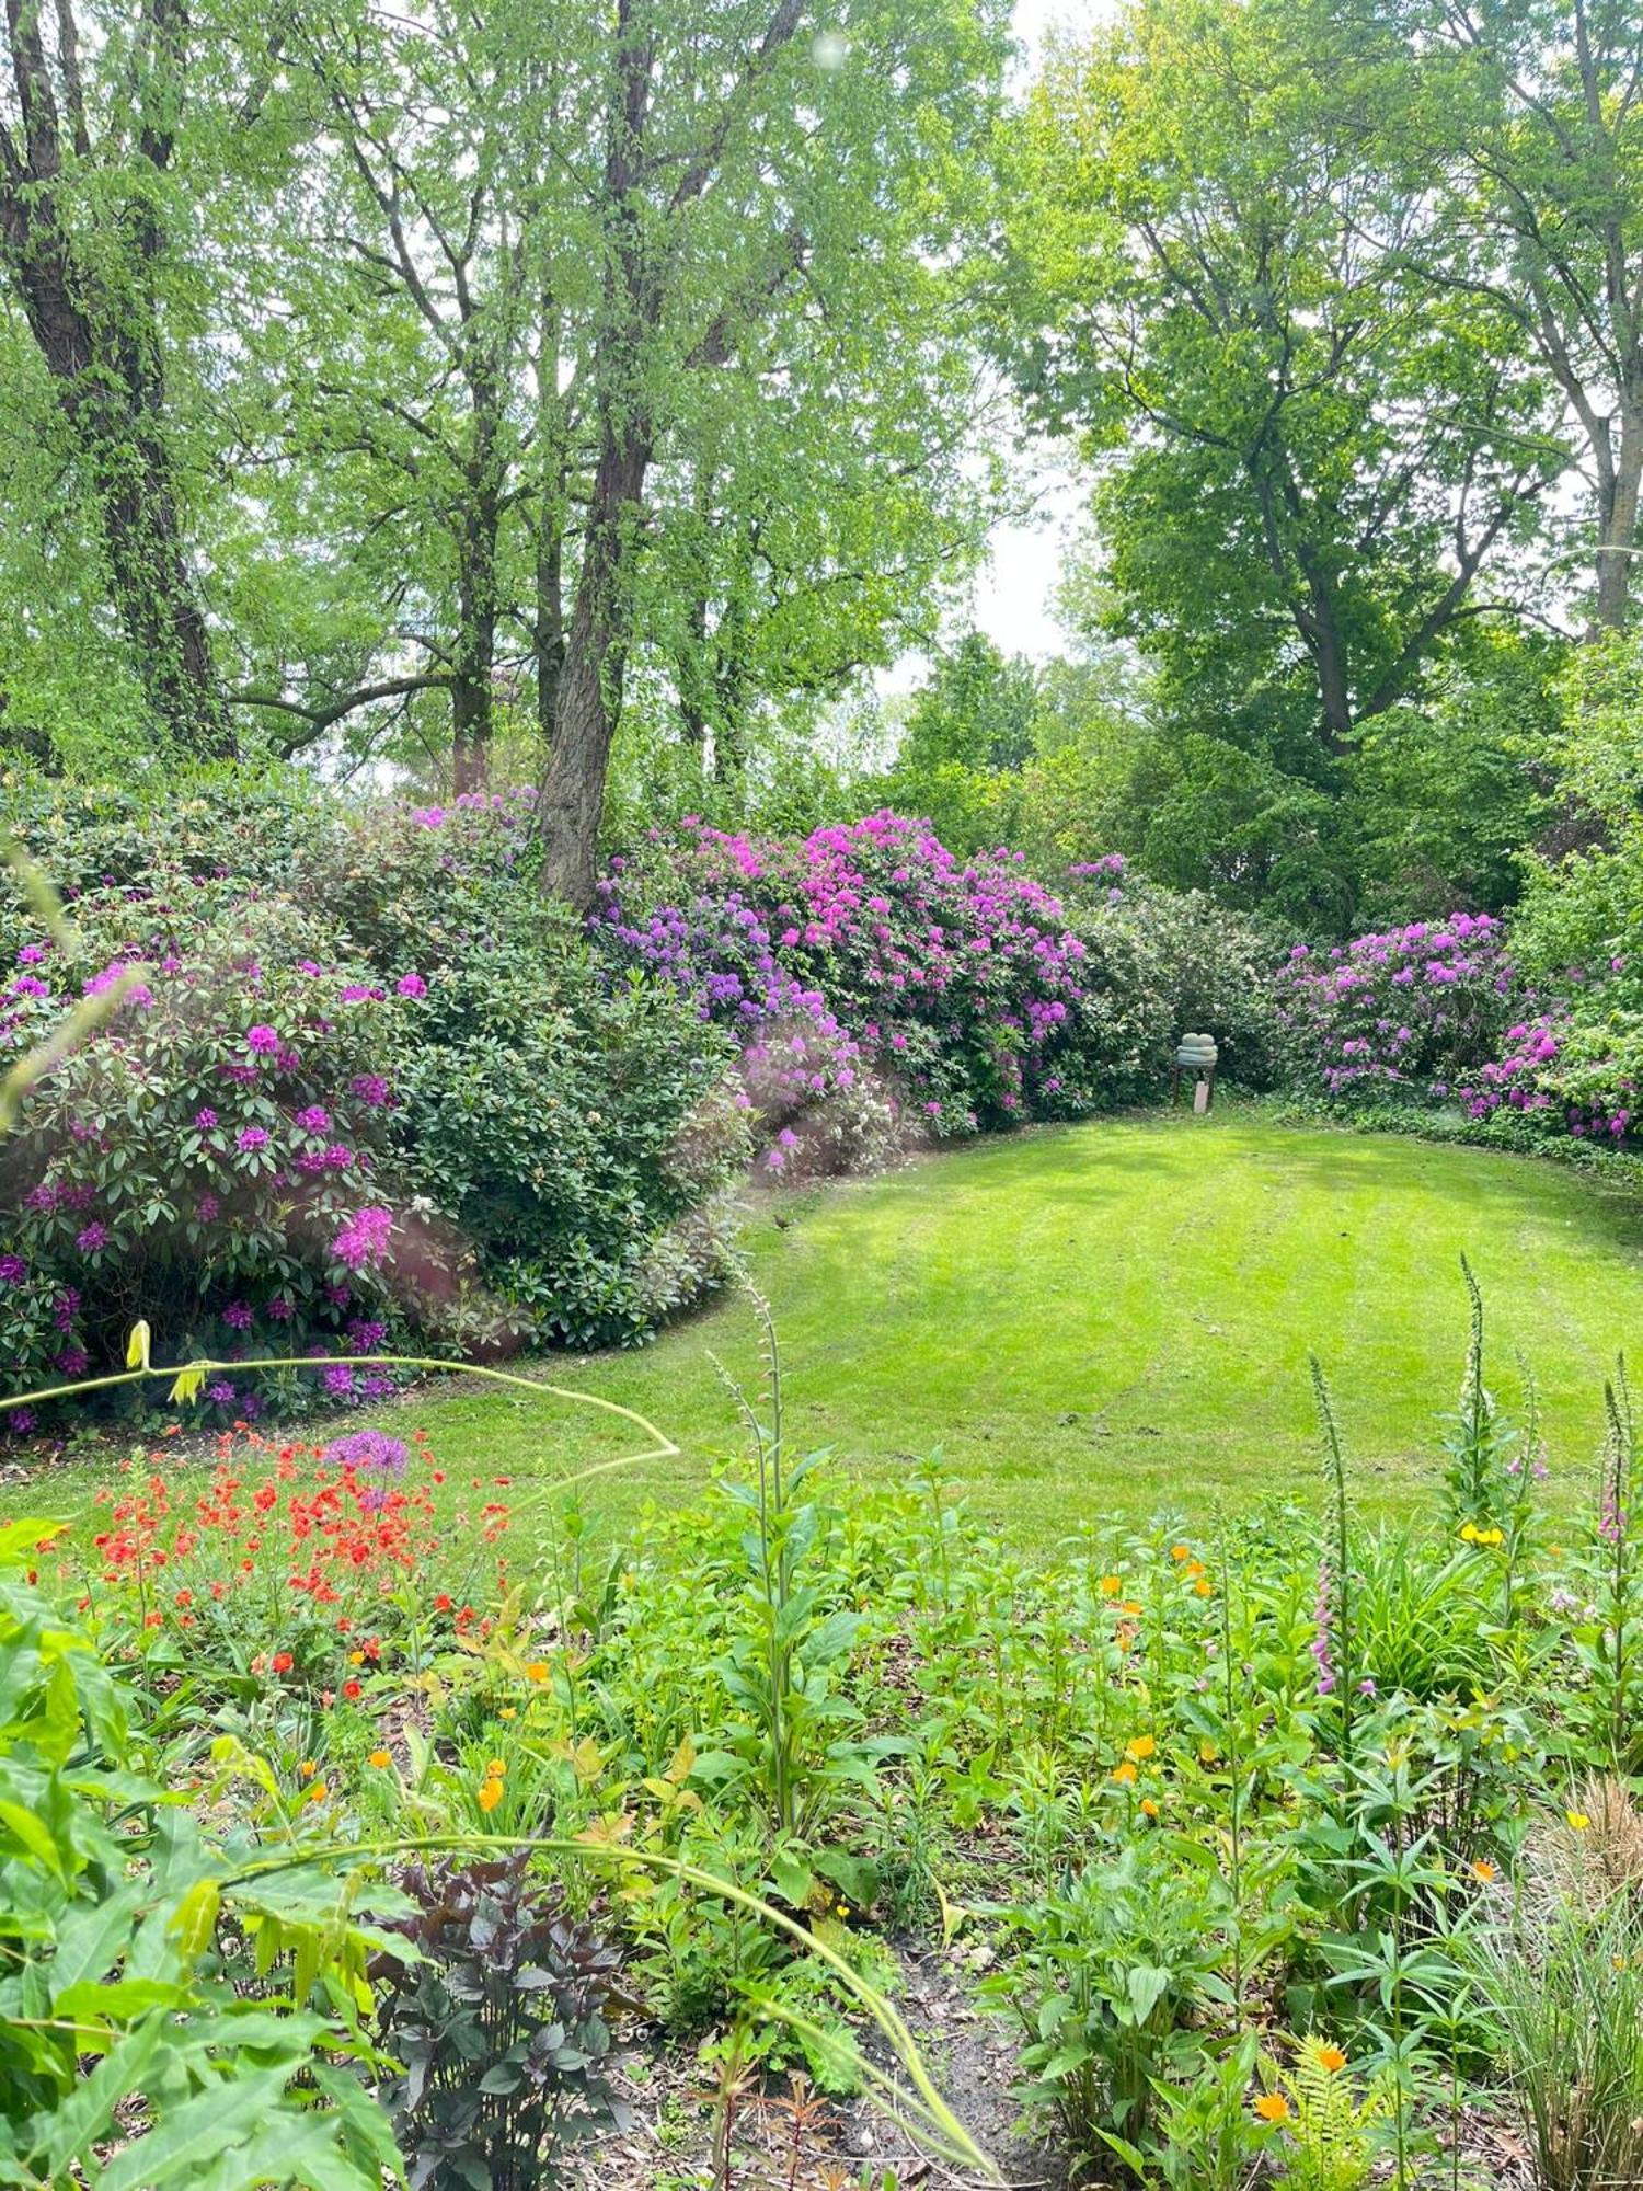
[[[1382,127],[1402,55],[1292,0],[1139,0],[1023,129],[1030,401],[1102,460],[1122,624],[1165,699],[1328,782],[1509,607],[1564,456],[1507,318],[1411,272],[1439,199]]]

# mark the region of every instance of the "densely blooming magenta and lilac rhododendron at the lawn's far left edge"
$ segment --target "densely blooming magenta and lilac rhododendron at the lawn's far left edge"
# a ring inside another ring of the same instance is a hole
[[[1019,852],[964,861],[894,813],[802,841],[688,817],[613,863],[591,931],[738,1032],[778,1163],[863,1074],[942,1135],[1082,1104],[1084,944]]]

